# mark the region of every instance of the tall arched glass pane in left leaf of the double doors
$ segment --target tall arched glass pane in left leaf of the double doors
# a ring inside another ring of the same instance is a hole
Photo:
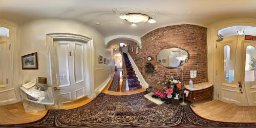
[[[226,45],[223,48],[225,78],[228,82],[232,82],[234,80],[234,62],[232,62],[230,58],[230,47]]]

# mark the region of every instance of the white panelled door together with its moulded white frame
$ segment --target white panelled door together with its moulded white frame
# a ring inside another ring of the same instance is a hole
[[[94,52],[90,38],[66,33],[47,35],[55,108],[84,96],[92,97]]]

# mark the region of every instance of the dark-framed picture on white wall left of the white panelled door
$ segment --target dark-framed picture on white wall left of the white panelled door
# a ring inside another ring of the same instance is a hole
[[[36,52],[22,56],[22,69],[38,69]]]

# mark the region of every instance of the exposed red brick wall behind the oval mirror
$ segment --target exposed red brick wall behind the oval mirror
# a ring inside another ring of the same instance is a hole
[[[187,84],[190,80],[190,70],[197,70],[197,78],[193,78],[194,83],[207,81],[207,45],[206,28],[196,25],[174,25],[158,28],[141,37],[142,49],[135,54],[137,44],[132,44],[134,52],[129,51],[137,67],[139,68],[145,81],[153,88],[161,89],[158,81],[163,81],[166,75],[173,75],[175,78],[181,78],[181,68],[166,68],[157,62],[157,55],[163,49],[180,48],[189,54],[189,59],[183,65],[184,82]],[[154,59],[150,61],[155,66],[155,72],[148,74],[145,72],[145,62],[147,56]],[[145,57],[145,59],[141,59]]]

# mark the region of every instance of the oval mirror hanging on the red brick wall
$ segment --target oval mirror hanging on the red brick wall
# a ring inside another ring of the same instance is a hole
[[[188,53],[179,48],[164,49],[157,55],[157,62],[164,67],[176,68],[184,65],[188,60]]]

